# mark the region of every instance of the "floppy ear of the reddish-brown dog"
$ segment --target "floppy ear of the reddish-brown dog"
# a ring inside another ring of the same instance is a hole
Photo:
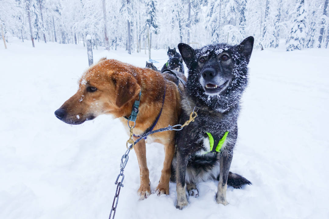
[[[136,78],[127,72],[116,74],[113,80],[116,95],[115,105],[119,108],[132,100],[140,91]]]

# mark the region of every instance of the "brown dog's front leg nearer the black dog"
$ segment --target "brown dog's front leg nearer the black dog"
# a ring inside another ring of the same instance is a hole
[[[174,139],[173,137],[171,139]],[[159,185],[156,188],[158,195],[167,194],[169,195],[169,180],[171,174],[171,162],[175,154],[175,141],[164,145],[164,166],[161,171],[161,178]]]

